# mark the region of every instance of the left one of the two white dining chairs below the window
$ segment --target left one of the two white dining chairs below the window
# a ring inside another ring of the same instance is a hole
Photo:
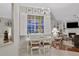
[[[33,55],[33,50],[38,50],[38,53],[40,54],[40,40],[30,40],[30,49],[31,55]]]

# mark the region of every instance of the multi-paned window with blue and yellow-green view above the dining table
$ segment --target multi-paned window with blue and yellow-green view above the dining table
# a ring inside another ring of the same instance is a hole
[[[44,33],[44,17],[28,15],[27,33]]]

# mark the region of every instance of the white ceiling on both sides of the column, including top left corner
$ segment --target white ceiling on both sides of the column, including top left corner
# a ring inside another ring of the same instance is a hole
[[[78,3],[26,3],[25,6],[50,8],[56,20],[74,20],[73,15],[79,16]],[[11,4],[0,4],[0,16],[11,18]]]

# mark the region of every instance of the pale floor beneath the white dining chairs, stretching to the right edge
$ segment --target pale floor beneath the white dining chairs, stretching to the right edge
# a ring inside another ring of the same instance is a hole
[[[41,49],[41,53],[39,54],[38,51],[33,51],[33,54],[31,55],[30,50],[27,53],[26,48],[26,42],[24,41],[22,45],[20,45],[19,49],[19,55],[20,56],[79,56],[79,52],[72,52],[72,51],[65,51],[65,50],[59,50],[56,48],[50,48],[45,51]]]

